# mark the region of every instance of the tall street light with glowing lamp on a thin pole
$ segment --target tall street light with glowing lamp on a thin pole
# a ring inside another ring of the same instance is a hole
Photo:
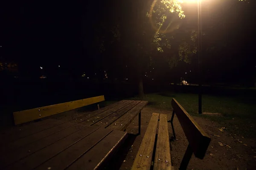
[[[202,114],[202,23],[201,0],[184,0],[187,3],[198,3],[198,113]]]

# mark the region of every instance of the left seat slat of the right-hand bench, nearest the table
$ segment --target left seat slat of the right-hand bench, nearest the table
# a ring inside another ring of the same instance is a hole
[[[149,170],[157,132],[158,113],[153,113],[131,170]]]

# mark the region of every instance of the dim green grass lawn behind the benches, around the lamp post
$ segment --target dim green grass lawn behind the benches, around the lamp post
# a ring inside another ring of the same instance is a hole
[[[224,123],[223,126],[237,135],[256,138],[256,96],[215,96],[203,95],[203,112],[221,113],[220,115],[199,115],[198,95],[189,93],[151,93],[144,100],[148,105],[159,109],[172,109],[171,101],[175,98],[190,115],[208,118]],[[139,98],[132,98],[139,100]]]

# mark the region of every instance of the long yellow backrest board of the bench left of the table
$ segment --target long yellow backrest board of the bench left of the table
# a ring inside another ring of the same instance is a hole
[[[44,118],[50,115],[55,115],[61,112],[66,112],[68,110],[76,109],[79,107],[87,106],[90,104],[98,103],[104,101],[104,95],[85,98],[77,101],[69,101],[61,104],[54,104],[50,106],[38,107],[35,109],[22,110],[19,112],[13,112],[15,125],[22,124],[29,121],[34,121],[40,118]]]

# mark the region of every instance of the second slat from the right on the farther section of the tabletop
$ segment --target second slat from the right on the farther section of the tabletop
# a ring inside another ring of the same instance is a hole
[[[136,107],[137,104],[139,104],[140,101],[130,101],[130,104],[123,107],[122,109],[117,110],[113,114],[109,115],[108,117],[98,121],[96,125],[100,127],[108,127],[110,124],[113,123],[113,121],[116,121],[118,118],[120,118],[122,115],[124,115],[128,110],[132,109],[133,107]]]

